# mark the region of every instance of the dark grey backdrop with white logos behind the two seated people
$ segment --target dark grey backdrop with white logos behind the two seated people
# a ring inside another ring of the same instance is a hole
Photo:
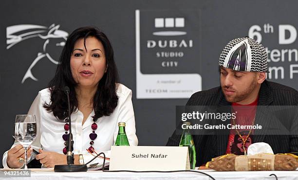
[[[53,77],[68,35],[93,25],[110,38],[129,87],[139,145],[165,145],[175,106],[219,86],[225,44],[250,36],[268,52],[268,80],[298,89],[295,0],[6,0],[1,2],[0,154]]]

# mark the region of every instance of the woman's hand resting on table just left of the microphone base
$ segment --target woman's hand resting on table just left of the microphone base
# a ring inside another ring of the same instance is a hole
[[[56,152],[46,152],[42,149],[39,149],[36,159],[45,167],[54,167],[55,165],[67,164],[66,155],[59,154]]]

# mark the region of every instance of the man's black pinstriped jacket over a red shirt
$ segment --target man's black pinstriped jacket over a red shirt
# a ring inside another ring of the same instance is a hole
[[[224,98],[221,87],[213,88],[211,90],[199,91],[194,93],[186,106],[231,106]],[[298,152],[298,112],[289,113],[283,110],[275,110],[277,112],[278,121],[270,118],[268,114],[260,113],[259,107],[280,107],[280,106],[298,106],[298,91],[287,86],[280,85],[269,81],[264,81],[261,84],[259,92],[258,108],[256,113],[255,124],[261,124],[262,129],[256,131],[253,137],[253,143],[264,142],[270,144],[273,152],[276,153],[289,153]],[[294,113],[294,114],[293,114]],[[227,123],[230,121],[228,120]],[[287,134],[274,134],[268,131],[270,126],[287,127],[291,133]],[[177,131],[177,130],[176,130]],[[168,139],[168,146],[178,146],[180,143],[181,135],[176,133]],[[205,164],[211,161],[212,158],[225,154],[228,133],[221,135],[193,135],[196,147],[196,166]]]

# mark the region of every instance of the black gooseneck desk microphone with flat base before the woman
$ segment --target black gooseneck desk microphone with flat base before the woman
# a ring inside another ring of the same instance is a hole
[[[71,112],[70,112],[70,101],[69,101],[69,87],[64,88],[64,92],[67,95],[67,104],[68,104],[68,120],[69,120],[69,134],[68,134],[68,146],[67,146],[67,165],[55,165],[54,171],[55,172],[86,172],[87,165],[76,165],[74,164],[75,158],[73,150],[73,134],[72,134],[72,120],[71,120]]]

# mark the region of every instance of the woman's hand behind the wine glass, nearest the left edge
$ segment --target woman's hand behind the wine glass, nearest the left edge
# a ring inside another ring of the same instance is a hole
[[[27,150],[27,160],[30,159],[32,153],[32,149],[30,146]],[[16,145],[15,147],[11,148],[7,152],[7,165],[10,168],[19,168],[22,167],[24,164],[24,161],[19,163],[19,158],[25,159],[25,149],[21,144]]]

